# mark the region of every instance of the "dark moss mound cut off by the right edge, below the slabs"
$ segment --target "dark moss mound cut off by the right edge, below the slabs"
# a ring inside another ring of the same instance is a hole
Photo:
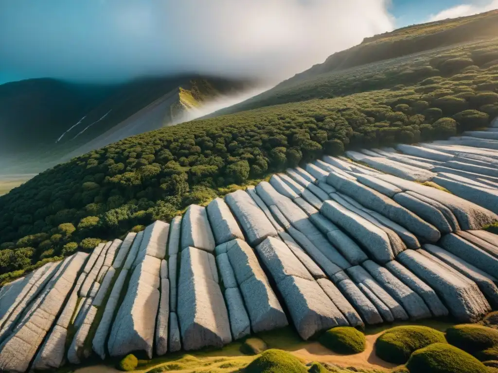
[[[498,359],[498,330],[484,325],[462,324],[446,330],[448,343],[481,361]]]

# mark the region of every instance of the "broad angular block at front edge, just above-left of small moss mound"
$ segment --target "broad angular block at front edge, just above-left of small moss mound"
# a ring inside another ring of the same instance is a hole
[[[348,325],[346,318],[315,280],[286,276],[277,283],[277,287],[302,339],[307,340],[335,326]]]

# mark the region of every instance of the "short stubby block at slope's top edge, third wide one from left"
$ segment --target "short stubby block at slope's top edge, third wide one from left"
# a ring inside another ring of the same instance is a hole
[[[216,245],[221,245],[236,238],[244,239],[244,234],[239,224],[237,224],[237,220],[235,220],[230,208],[222,198],[213,199],[206,210]]]

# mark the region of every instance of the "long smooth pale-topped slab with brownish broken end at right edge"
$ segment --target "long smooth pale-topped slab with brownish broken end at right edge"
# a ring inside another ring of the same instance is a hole
[[[403,191],[413,191],[442,203],[455,214],[461,229],[481,229],[483,226],[498,220],[498,215],[492,211],[445,191],[408,182],[391,175],[379,175],[378,178],[396,185]]]

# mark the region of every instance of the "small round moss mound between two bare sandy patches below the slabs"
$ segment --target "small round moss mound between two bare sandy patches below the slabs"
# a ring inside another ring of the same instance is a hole
[[[327,330],[319,339],[328,349],[344,355],[365,351],[365,335],[351,326]]]

